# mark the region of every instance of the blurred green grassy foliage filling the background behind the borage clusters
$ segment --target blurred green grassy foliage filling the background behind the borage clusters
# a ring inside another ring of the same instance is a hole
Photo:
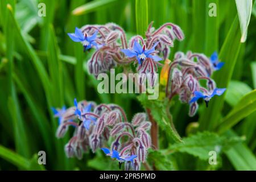
[[[42,17],[38,15],[41,2],[46,5],[46,16]],[[217,5],[217,16],[210,17],[212,2]],[[208,108],[200,106],[199,113],[189,118],[188,107],[174,98],[170,109],[177,131],[164,118],[167,106],[159,101],[146,101],[143,95],[135,94],[98,94],[98,81],[86,68],[92,51],[83,53],[81,45],[67,36],[75,27],[108,22],[122,26],[128,36],[143,34],[151,20],[156,28],[172,22],[184,31],[185,40],[175,42],[170,60],[176,51],[191,50],[207,56],[220,52],[225,62],[213,77],[220,88],[228,90]],[[64,144],[69,137],[55,138],[57,119],[50,108],[71,106],[76,97],[118,104],[129,119],[151,107],[160,126],[160,149],[148,155],[148,164],[154,164],[155,169],[256,170],[254,1],[245,43],[240,42],[240,23],[234,0],[1,0],[0,169],[118,169],[101,151],[88,152],[82,160],[65,157]],[[183,142],[175,143],[181,140],[177,133]],[[209,165],[208,151],[216,147],[220,163]],[[46,151],[46,166],[37,163],[42,150]]]

